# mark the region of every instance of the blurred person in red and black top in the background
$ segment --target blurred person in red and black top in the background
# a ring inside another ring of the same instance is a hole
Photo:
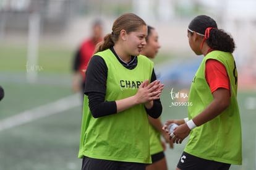
[[[72,90],[75,92],[81,91],[83,95],[83,88],[85,85],[85,70],[88,62],[93,56],[95,46],[103,40],[103,23],[101,20],[94,20],[92,24],[92,35],[85,39],[74,55],[72,63]]]

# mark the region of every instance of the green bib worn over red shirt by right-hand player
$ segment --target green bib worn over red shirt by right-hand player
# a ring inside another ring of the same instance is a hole
[[[231,53],[211,51],[203,57],[190,87],[189,102],[192,106],[188,106],[189,119],[197,116],[213,101],[213,95],[205,79],[207,59],[216,59],[226,67],[231,88],[230,103],[219,116],[190,132],[184,151],[203,159],[242,164],[241,120],[236,100],[237,70]]]

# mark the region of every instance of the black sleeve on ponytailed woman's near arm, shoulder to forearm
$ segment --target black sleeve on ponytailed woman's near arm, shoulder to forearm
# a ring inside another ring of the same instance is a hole
[[[105,101],[107,77],[105,61],[100,56],[93,56],[86,71],[85,95],[88,95],[89,108],[95,118],[117,113],[116,101]]]

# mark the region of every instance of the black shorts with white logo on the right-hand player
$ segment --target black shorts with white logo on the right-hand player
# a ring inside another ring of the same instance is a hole
[[[231,164],[198,158],[197,156],[190,155],[186,152],[182,153],[179,163],[177,164],[177,168],[181,170],[228,170],[230,166]]]

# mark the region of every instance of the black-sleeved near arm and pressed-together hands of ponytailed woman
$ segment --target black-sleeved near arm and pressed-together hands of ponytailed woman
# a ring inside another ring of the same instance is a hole
[[[160,81],[156,80],[148,85],[148,80],[145,80],[140,85],[136,95],[117,101],[105,101],[107,74],[108,67],[105,61],[99,56],[92,57],[86,72],[85,95],[88,95],[88,104],[93,117],[116,114],[136,104],[147,103],[150,100],[159,100],[160,98],[163,89]],[[158,114],[153,114],[153,116],[156,117]]]

